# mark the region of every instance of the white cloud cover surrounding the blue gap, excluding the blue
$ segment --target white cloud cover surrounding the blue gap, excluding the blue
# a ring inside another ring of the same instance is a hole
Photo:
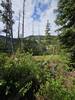
[[[33,20],[31,18],[31,15],[33,13],[34,9],[34,3],[32,4],[33,0],[26,0],[26,7],[25,7],[25,36],[32,35],[32,25],[33,25]],[[34,0],[36,1],[36,0]],[[47,2],[48,0],[45,0]],[[15,25],[13,27],[14,30],[14,37],[17,37],[18,34],[18,16],[19,16],[19,10],[22,12],[22,5],[23,5],[23,0],[13,0],[13,10],[15,11],[14,13],[14,20],[15,20]],[[44,35],[45,27],[47,20],[50,20],[51,23],[51,33],[56,34],[54,30],[56,29],[56,25],[54,23],[55,20],[55,15],[53,14],[53,10],[56,9],[57,5],[57,0],[52,0],[51,8],[47,9],[45,12],[42,13],[41,15],[41,21],[34,22],[34,34],[35,35]],[[22,15],[22,13],[21,13]],[[21,23],[22,23],[22,17],[21,17]],[[0,24],[1,25],[1,24]],[[22,25],[21,25],[22,26]],[[39,27],[38,27],[39,26]],[[20,33],[22,30],[20,30]],[[40,32],[40,33],[38,33]]]

